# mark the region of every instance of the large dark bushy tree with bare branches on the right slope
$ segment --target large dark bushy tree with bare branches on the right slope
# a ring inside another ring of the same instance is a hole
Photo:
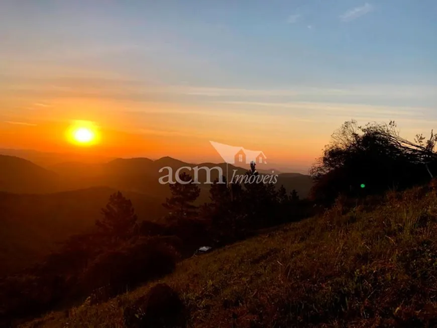
[[[314,200],[334,201],[340,193],[365,196],[428,182],[427,168],[437,168],[435,135],[415,142],[399,136],[396,124],[350,121],[332,135],[332,142],[311,168]]]

